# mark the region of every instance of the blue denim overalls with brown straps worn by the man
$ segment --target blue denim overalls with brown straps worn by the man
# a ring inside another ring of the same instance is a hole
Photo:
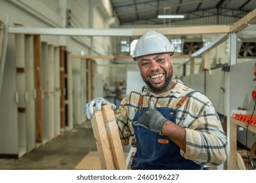
[[[192,93],[194,93],[194,91],[188,93],[182,99],[186,100]],[[142,95],[140,95],[140,97],[141,96]],[[182,102],[180,101],[181,104],[184,100]],[[178,107],[157,107],[157,110],[159,110],[165,118],[175,123]],[[137,121],[147,108],[148,107],[139,108],[133,121]],[[137,139],[137,152],[133,158],[131,169],[203,169],[202,165],[198,165],[194,163],[194,161],[182,158],[179,146],[167,136],[150,131],[140,125],[133,125],[133,128]]]

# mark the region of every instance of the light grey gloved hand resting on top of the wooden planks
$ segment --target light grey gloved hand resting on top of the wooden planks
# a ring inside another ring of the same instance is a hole
[[[98,97],[89,101],[89,103],[85,105],[85,115],[89,120],[91,120],[91,116],[95,113],[93,112],[93,106],[95,105],[97,110],[101,110],[101,106],[106,104],[112,104],[112,109],[116,109],[116,105],[114,105],[114,103],[110,103],[110,101],[104,99],[103,97]]]

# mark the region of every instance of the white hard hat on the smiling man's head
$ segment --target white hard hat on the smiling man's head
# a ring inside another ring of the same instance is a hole
[[[139,56],[156,53],[170,53],[173,55],[173,44],[161,33],[156,31],[147,31],[138,40],[135,49],[133,50],[132,57],[136,60]]]

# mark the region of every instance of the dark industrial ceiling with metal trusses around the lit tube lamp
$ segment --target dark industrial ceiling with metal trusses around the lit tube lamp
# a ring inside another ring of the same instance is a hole
[[[256,8],[255,0],[110,1],[120,26],[233,24]],[[184,18],[159,19],[160,14],[182,14]]]

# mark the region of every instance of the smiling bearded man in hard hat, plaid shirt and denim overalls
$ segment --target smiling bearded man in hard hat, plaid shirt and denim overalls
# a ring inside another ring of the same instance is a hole
[[[132,169],[203,169],[221,165],[227,157],[227,140],[213,105],[201,92],[172,80],[174,48],[156,31],[140,37],[133,52],[146,86],[121,101],[117,125],[123,145],[137,147]],[[91,119],[94,99],[85,105]],[[115,108],[115,106],[113,105]]]

